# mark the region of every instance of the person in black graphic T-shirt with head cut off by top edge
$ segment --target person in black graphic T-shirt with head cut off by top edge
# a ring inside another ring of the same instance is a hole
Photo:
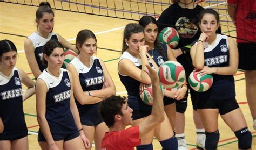
[[[196,4],[194,0],[175,0],[174,4],[165,9],[157,20],[159,32],[163,30],[164,27],[169,26],[175,28],[179,33],[179,44],[175,49],[172,49],[172,52],[174,56],[176,56],[177,61],[184,67],[187,81],[188,76],[194,69],[190,57],[190,48],[200,36],[198,15],[202,10],[204,10],[204,8]],[[198,149],[203,149],[205,144],[205,130],[196,108],[197,96],[190,85],[188,85],[188,88],[190,89],[190,98],[193,105],[193,119],[197,132],[196,145]],[[180,150],[187,149],[184,134],[187,97],[188,90],[185,98],[176,101],[175,136],[178,139]]]

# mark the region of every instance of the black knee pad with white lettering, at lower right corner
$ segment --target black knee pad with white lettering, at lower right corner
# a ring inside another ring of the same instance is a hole
[[[235,136],[238,138],[239,149],[250,149],[252,146],[252,133],[248,127],[242,128],[241,130],[235,131]]]

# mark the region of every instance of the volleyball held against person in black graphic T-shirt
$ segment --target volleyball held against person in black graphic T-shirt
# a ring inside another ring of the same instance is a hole
[[[179,33],[173,27],[165,27],[160,31],[158,38],[161,42],[175,48],[179,44]]]

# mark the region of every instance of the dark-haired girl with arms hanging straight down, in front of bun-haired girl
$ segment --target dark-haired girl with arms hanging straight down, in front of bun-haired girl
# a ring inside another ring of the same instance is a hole
[[[60,42],[46,42],[43,64],[47,68],[36,81],[38,142],[42,149],[84,149],[90,146],[73,97],[72,74],[60,68],[63,61],[64,49]]]

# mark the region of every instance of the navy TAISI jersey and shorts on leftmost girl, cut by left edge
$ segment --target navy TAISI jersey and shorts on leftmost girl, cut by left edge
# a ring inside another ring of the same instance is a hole
[[[22,100],[22,83],[18,69],[14,67],[9,76],[0,72],[0,114],[4,131],[0,140],[17,140],[28,135]]]

